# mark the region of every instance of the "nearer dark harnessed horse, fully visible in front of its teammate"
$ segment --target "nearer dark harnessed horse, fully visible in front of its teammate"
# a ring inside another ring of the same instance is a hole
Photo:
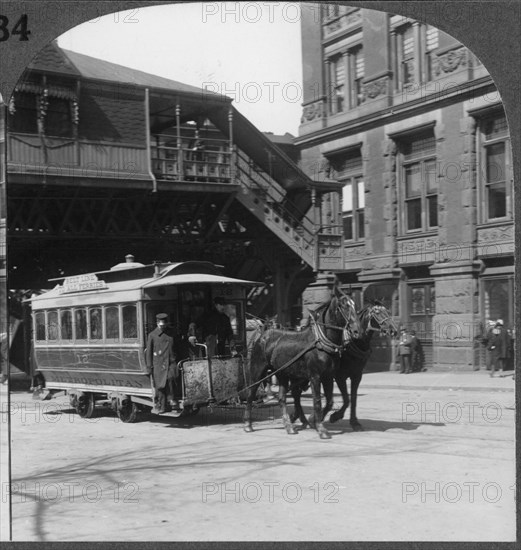
[[[337,286],[329,302],[320,306],[311,325],[300,332],[268,328],[252,339],[248,367],[249,393],[244,413],[244,430],[252,432],[251,409],[257,388],[271,368],[279,381],[279,404],[282,421],[288,434],[298,433],[286,407],[289,382],[292,385],[310,382],[313,392],[314,424],[322,439],[331,436],[322,424],[320,384],[326,399],[333,400],[333,372],[343,346],[360,331],[355,304]],[[271,375],[270,375],[271,376]]]

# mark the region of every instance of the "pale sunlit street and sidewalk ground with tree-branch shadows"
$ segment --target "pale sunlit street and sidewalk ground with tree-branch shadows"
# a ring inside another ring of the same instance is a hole
[[[513,541],[514,385],[486,371],[366,374],[364,431],[345,418],[325,441],[286,434],[275,405],[246,434],[241,409],[123,424],[27,391],[8,411],[2,386],[2,518],[10,496],[14,541]]]

